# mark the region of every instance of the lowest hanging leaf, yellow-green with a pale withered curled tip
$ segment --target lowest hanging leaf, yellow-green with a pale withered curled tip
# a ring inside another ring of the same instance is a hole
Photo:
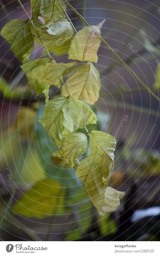
[[[90,155],[81,161],[80,166],[76,171],[77,176],[82,180],[84,190],[88,194],[92,203],[95,205],[99,215],[106,215],[107,213],[116,210],[118,207],[118,200],[125,194],[124,192],[113,193],[113,204],[111,204],[111,193],[112,190],[108,190],[106,178],[109,180],[108,172],[106,169],[101,169],[98,166],[93,157]]]

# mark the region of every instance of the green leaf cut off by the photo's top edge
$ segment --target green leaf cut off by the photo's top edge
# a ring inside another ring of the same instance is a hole
[[[63,9],[66,10],[66,6],[63,2],[61,2],[61,5],[59,4],[58,0],[31,1],[33,19],[37,19],[38,16],[42,16],[44,17],[45,21],[56,21],[62,17],[65,17],[66,14]]]

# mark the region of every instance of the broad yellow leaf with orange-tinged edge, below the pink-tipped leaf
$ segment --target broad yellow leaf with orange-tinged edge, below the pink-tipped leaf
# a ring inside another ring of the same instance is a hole
[[[100,76],[98,70],[91,62],[88,62],[72,74],[66,81],[68,91],[77,99],[82,99],[93,105],[98,100],[100,90]],[[62,87],[61,95],[68,97],[65,87]]]

